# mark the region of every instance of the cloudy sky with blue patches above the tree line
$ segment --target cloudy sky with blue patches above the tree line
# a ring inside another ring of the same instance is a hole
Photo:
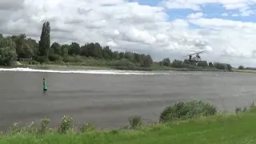
[[[256,66],[256,0],[1,0],[0,33],[112,50]]]

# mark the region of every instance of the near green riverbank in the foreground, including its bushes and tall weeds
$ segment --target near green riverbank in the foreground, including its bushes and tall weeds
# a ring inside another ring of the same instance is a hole
[[[117,130],[97,130],[89,123],[75,128],[72,127],[72,118],[68,116],[62,118],[58,128],[49,129],[50,120],[44,118],[38,126],[31,124],[22,128],[14,124],[9,131],[0,135],[0,144],[256,143],[255,106],[250,106],[250,109],[237,108],[236,112],[215,114],[214,107],[203,102],[178,102],[161,114],[161,118],[171,119],[171,122],[143,125],[141,118],[134,117],[130,118],[129,126]]]

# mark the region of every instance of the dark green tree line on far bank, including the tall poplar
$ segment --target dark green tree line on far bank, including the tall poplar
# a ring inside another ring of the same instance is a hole
[[[150,54],[138,54],[130,51],[120,52],[111,50],[109,46],[101,46],[98,42],[85,43],[80,46],[77,42],[70,44],[50,44],[50,22],[42,24],[40,40],[37,42],[32,38],[26,38],[26,34],[3,37],[0,34],[0,65],[10,66],[17,60],[31,59],[32,63],[56,63],[63,62],[79,63],[86,66],[114,66],[118,69],[148,69],[154,63]],[[164,58],[158,62],[160,66],[171,66],[175,68],[194,68],[194,63],[188,60],[174,60]],[[198,62],[197,66],[216,67],[230,70],[230,64],[206,61]]]

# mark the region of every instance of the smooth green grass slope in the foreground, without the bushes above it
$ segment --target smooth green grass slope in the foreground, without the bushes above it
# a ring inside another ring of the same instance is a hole
[[[256,114],[215,115],[135,130],[90,130],[2,134],[0,144],[250,144],[256,143]]]

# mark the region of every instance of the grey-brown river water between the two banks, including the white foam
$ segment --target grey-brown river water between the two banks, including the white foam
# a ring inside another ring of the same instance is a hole
[[[73,116],[74,124],[114,128],[134,115],[157,122],[162,110],[177,101],[202,99],[233,112],[234,106],[256,100],[255,74],[14,68],[0,69],[0,78],[0,130],[44,117],[58,126],[64,114]]]

